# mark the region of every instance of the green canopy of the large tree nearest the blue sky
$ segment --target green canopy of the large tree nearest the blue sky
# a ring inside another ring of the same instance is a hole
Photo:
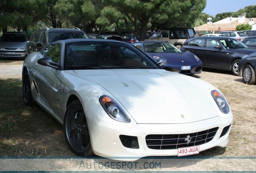
[[[102,0],[107,6],[96,23],[103,28],[123,20],[140,40],[149,29],[191,26],[206,6],[206,0]],[[111,15],[110,15],[111,14]],[[113,19],[114,18],[114,19]],[[117,24],[116,24],[117,25]]]

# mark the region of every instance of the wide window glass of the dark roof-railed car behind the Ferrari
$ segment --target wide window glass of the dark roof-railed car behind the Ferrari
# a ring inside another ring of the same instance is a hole
[[[83,32],[49,32],[50,43],[58,40],[66,40],[70,38],[88,38],[88,36]]]

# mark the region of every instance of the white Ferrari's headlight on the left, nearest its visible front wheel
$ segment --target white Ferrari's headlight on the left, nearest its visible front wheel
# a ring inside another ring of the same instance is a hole
[[[103,95],[99,98],[99,103],[112,119],[124,123],[131,122],[130,118],[126,115],[118,103],[116,103],[116,101],[114,101],[114,99],[111,97]]]

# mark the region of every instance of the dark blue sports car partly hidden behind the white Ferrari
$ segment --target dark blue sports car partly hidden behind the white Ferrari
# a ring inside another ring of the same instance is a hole
[[[165,58],[167,64],[163,69],[182,74],[198,74],[202,72],[202,61],[190,52],[182,52],[173,44],[159,41],[140,41],[132,44],[157,61]]]

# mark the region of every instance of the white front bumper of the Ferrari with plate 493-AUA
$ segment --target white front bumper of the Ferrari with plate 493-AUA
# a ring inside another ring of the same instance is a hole
[[[223,129],[231,125],[232,113],[228,119],[214,117],[211,119],[184,124],[136,124],[135,127],[120,127],[87,117],[89,122],[91,145],[93,152],[101,157],[111,159],[134,161],[147,156],[177,156],[178,149],[150,149],[146,143],[147,135],[157,134],[189,134],[218,127],[211,141],[200,145],[199,151],[204,151],[216,146],[226,147],[231,129],[222,137]],[[124,147],[120,135],[137,137],[138,149]]]

